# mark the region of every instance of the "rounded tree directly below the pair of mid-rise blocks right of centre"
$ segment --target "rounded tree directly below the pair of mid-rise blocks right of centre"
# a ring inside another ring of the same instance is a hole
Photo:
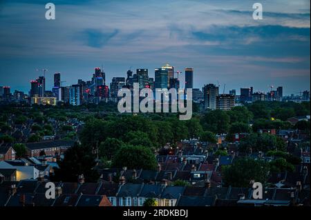
[[[229,132],[229,115],[222,110],[207,112],[202,118],[204,130],[209,130],[215,134],[225,134]]]

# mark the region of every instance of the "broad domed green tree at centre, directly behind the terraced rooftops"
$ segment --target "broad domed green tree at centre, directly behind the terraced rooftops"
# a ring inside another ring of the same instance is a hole
[[[122,146],[113,158],[113,167],[156,170],[156,157],[150,148],[144,146]]]

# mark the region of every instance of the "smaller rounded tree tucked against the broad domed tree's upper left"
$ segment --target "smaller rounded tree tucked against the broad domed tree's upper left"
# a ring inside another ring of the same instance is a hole
[[[119,150],[123,145],[124,143],[119,139],[109,137],[106,141],[100,143],[99,156],[111,160],[117,150]]]

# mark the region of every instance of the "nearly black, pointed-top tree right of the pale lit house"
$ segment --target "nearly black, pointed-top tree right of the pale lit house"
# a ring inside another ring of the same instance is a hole
[[[95,157],[88,148],[79,146],[78,143],[69,148],[64,154],[64,160],[58,162],[59,169],[55,168],[53,181],[76,182],[79,175],[84,174],[88,182],[96,182],[100,175],[93,170]]]

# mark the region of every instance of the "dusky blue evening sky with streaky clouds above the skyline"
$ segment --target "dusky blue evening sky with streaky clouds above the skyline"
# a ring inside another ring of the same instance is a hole
[[[194,88],[310,90],[309,0],[50,0],[55,20],[47,2],[0,0],[0,86],[28,92],[43,68],[50,90],[55,72],[69,86],[103,66],[110,83],[129,68],[154,77],[169,63],[194,68]]]

